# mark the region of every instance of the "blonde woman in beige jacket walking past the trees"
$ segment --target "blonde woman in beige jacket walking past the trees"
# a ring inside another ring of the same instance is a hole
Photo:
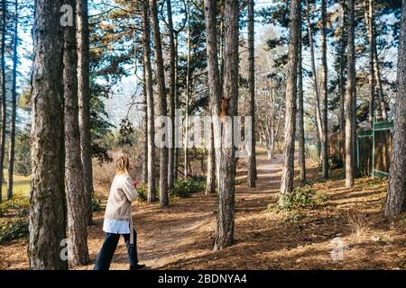
[[[125,238],[130,270],[139,270],[145,267],[138,264],[136,238],[133,228],[131,202],[137,198],[137,191],[128,173],[133,166],[130,158],[123,155],[115,162],[115,178],[111,184],[106,206],[103,230],[106,232],[105,242],[96,260],[95,270],[108,270],[115,254],[120,235]]]

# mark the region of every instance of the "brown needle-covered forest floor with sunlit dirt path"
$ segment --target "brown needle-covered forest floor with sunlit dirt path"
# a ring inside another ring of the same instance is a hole
[[[272,206],[281,158],[271,161],[258,154],[256,188],[247,188],[246,172],[238,171],[235,244],[219,252],[211,250],[216,195],[197,193],[166,209],[134,204],[140,262],[150,269],[406,269],[406,215],[383,216],[386,181],[363,177],[346,189],[342,170],[321,181],[309,161],[311,190],[323,195],[323,201],[300,211],[277,211]],[[79,269],[93,269],[103,243],[102,225],[100,211],[88,228],[92,262]],[[26,244],[17,240],[0,246],[0,269],[26,269]],[[111,269],[128,269],[123,238]]]

